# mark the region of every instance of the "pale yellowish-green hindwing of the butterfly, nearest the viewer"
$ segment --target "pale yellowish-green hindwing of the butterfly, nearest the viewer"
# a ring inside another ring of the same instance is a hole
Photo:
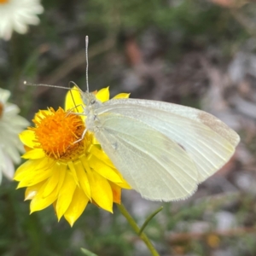
[[[195,163],[160,131],[117,113],[98,116],[96,139],[131,187],[153,201],[174,201],[197,188]]]

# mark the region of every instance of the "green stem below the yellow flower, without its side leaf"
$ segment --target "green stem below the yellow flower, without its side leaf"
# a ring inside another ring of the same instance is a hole
[[[128,223],[131,225],[131,228],[136,232],[136,234],[144,241],[146,246],[148,247],[148,250],[152,253],[153,256],[160,256],[159,253],[155,250],[153,244],[151,241],[149,241],[148,236],[142,232],[140,235],[140,228],[135,222],[135,220],[131,217],[130,213],[127,212],[125,206],[123,204],[116,204],[117,207],[119,208],[119,211],[125,216],[127,219]]]

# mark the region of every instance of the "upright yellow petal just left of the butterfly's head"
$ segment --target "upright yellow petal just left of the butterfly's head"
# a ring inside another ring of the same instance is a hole
[[[74,86],[71,90],[68,90],[65,99],[65,110],[71,110],[73,112],[83,113],[84,108],[82,107],[84,102],[81,98],[80,90]]]

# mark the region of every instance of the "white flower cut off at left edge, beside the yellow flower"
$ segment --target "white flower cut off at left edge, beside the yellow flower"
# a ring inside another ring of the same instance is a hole
[[[8,102],[9,90],[0,88],[0,183],[2,173],[12,179],[15,172],[14,163],[20,163],[20,152],[24,152],[18,134],[29,123],[18,113],[20,109]]]

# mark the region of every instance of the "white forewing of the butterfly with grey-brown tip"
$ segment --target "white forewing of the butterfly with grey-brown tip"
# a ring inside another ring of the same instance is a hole
[[[167,141],[172,142],[170,143],[171,148],[175,143],[182,146],[196,166],[198,183],[224,166],[234,154],[236,145],[240,141],[236,131],[231,130],[229,126],[212,114],[172,103],[113,99],[105,102],[102,108],[96,109],[96,114],[100,120],[103,114],[121,116],[124,125],[119,126],[119,133],[128,122],[125,120],[133,119],[134,126],[143,123],[158,134],[167,137]],[[104,125],[102,123],[102,127]],[[112,127],[115,124],[108,125]],[[121,134],[119,136],[121,137]],[[139,137],[141,134],[137,132],[137,138]],[[148,136],[147,139],[154,145],[154,137]],[[119,166],[117,167],[119,168]],[[119,171],[122,172],[121,169]],[[174,172],[177,171],[174,169]]]

